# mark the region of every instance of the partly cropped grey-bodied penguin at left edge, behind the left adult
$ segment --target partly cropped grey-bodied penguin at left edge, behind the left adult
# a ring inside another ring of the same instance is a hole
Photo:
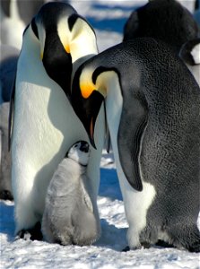
[[[8,152],[8,117],[19,50],[0,45],[0,199],[13,200],[11,154]]]

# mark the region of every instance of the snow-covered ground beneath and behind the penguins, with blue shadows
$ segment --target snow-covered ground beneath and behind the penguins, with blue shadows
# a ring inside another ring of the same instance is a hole
[[[133,7],[146,2],[71,1],[95,28],[100,51],[121,41],[124,22]],[[193,0],[181,2],[193,11]],[[13,203],[0,201],[0,268],[200,268],[199,254],[176,248],[122,252],[127,246],[127,223],[112,154],[103,152],[100,172],[98,205],[102,231],[98,242],[91,247],[62,247],[39,241],[14,241]]]

